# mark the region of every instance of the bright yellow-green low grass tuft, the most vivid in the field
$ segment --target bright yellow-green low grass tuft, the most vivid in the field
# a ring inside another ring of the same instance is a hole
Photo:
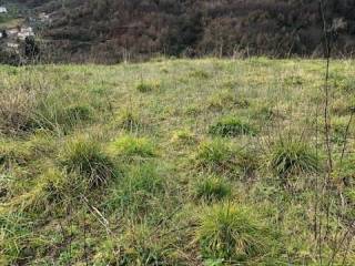
[[[146,158],[156,156],[154,144],[145,137],[124,135],[111,143],[111,153],[121,158]]]

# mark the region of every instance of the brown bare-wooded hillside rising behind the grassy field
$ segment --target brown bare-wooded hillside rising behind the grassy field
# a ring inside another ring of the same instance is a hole
[[[52,13],[43,32],[71,60],[322,54],[317,0],[22,0]],[[355,1],[326,1],[337,54],[355,48]],[[84,59],[82,59],[84,58]]]

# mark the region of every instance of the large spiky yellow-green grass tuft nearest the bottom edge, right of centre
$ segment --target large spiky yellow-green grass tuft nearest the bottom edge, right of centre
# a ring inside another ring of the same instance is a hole
[[[202,215],[196,238],[205,258],[255,263],[272,256],[276,237],[251,209],[222,204]]]

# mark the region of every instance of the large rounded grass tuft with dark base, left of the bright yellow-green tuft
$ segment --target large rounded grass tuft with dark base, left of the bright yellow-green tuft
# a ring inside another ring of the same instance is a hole
[[[90,187],[108,183],[116,175],[111,158],[97,142],[88,139],[68,143],[61,163],[68,172],[78,172],[85,177]]]

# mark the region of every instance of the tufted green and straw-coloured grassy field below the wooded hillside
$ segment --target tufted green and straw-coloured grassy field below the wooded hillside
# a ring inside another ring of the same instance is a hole
[[[354,265],[354,66],[0,66],[0,264]]]

